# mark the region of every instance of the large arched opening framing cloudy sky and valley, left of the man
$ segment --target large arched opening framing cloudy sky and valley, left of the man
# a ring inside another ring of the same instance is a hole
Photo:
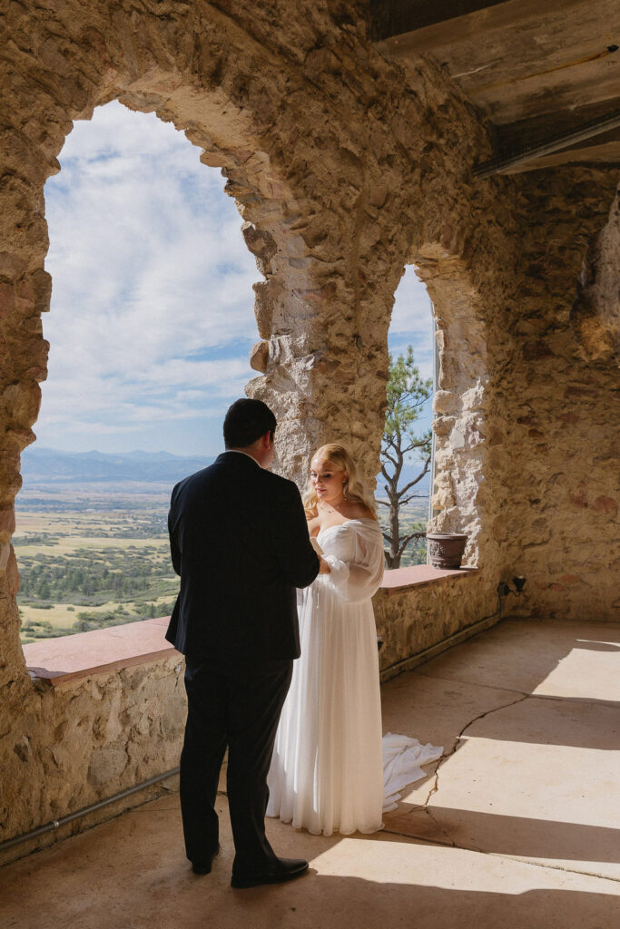
[[[22,644],[164,616],[173,484],[221,449],[253,376],[256,262],[217,169],[113,102],[46,185],[49,375],[22,455]]]

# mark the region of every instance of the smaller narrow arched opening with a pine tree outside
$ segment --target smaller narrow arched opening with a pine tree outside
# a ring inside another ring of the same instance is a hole
[[[388,568],[425,564],[432,479],[433,309],[408,266],[389,326],[388,410],[377,476],[378,516]]]

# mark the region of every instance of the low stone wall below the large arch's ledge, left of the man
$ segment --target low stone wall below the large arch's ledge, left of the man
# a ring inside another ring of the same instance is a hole
[[[20,712],[2,717],[2,839],[176,767],[186,715],[182,668],[176,655],[59,687],[35,679]],[[8,849],[0,864],[56,838],[47,833]]]

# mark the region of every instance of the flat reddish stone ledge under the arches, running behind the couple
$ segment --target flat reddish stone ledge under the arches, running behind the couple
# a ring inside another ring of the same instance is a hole
[[[387,595],[445,578],[468,577],[477,569],[440,570],[428,565],[386,571],[381,591]],[[31,677],[52,687],[84,680],[93,674],[106,674],[148,661],[181,656],[165,641],[169,617],[129,622],[123,626],[94,629],[89,633],[42,639],[23,647],[26,667]]]

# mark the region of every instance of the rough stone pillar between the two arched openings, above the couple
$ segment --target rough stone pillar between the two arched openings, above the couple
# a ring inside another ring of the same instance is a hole
[[[404,237],[395,242],[387,234],[389,212],[377,222],[363,167],[355,184],[347,178],[343,196],[342,166],[329,155],[322,151],[321,164],[313,165],[323,185],[311,201],[299,191],[305,175],[287,177],[286,188],[280,182],[278,202],[272,193],[270,199],[262,195],[265,172],[252,158],[224,172],[244,216],[245,242],[265,277],[254,288],[260,342],[251,364],[259,376],[246,392],[276,413],[276,466],[282,473],[303,486],[312,452],[337,440],[350,448],[374,488],[389,313],[404,265]],[[230,164],[230,150],[226,157]],[[209,153],[204,160],[223,159]],[[271,178],[270,191],[276,183]]]

